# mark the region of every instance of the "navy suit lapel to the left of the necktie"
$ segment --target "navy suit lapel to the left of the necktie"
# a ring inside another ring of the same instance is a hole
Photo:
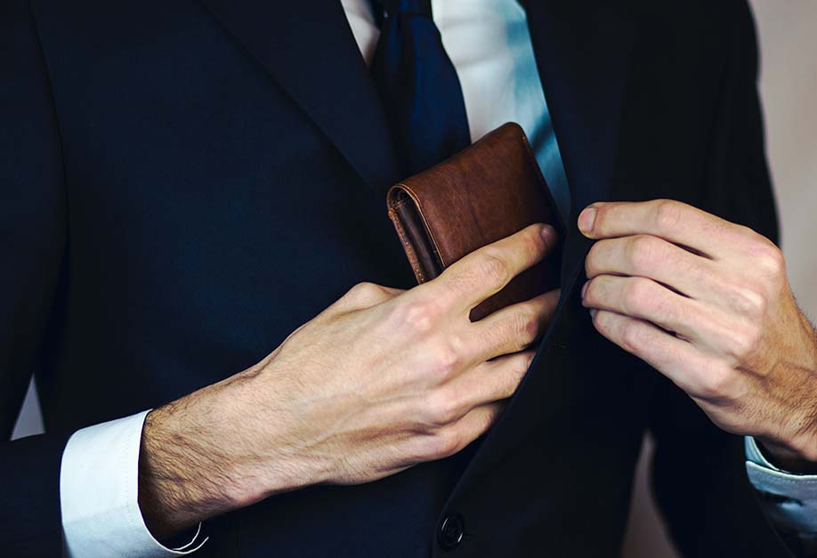
[[[341,3],[202,1],[369,186],[384,195],[400,178],[397,159]]]

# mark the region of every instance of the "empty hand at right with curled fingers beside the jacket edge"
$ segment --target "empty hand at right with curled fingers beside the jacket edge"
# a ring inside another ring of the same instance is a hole
[[[578,227],[584,305],[603,336],[687,392],[781,466],[817,462],[817,336],[781,251],[753,230],[670,200],[596,203]]]

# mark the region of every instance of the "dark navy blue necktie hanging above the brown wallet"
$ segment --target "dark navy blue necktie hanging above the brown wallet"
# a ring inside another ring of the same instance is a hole
[[[431,0],[374,0],[381,21],[371,74],[405,174],[471,144],[457,71],[442,46]]]

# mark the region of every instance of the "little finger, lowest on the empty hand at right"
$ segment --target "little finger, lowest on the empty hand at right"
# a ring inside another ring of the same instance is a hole
[[[695,347],[643,319],[594,311],[596,330],[644,360],[693,397],[708,398],[718,372],[713,360]]]

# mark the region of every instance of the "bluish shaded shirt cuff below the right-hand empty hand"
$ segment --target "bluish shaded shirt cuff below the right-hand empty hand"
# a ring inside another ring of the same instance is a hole
[[[792,474],[772,465],[751,436],[746,437],[746,472],[764,510],[781,533],[797,535],[817,553],[817,475]]]

